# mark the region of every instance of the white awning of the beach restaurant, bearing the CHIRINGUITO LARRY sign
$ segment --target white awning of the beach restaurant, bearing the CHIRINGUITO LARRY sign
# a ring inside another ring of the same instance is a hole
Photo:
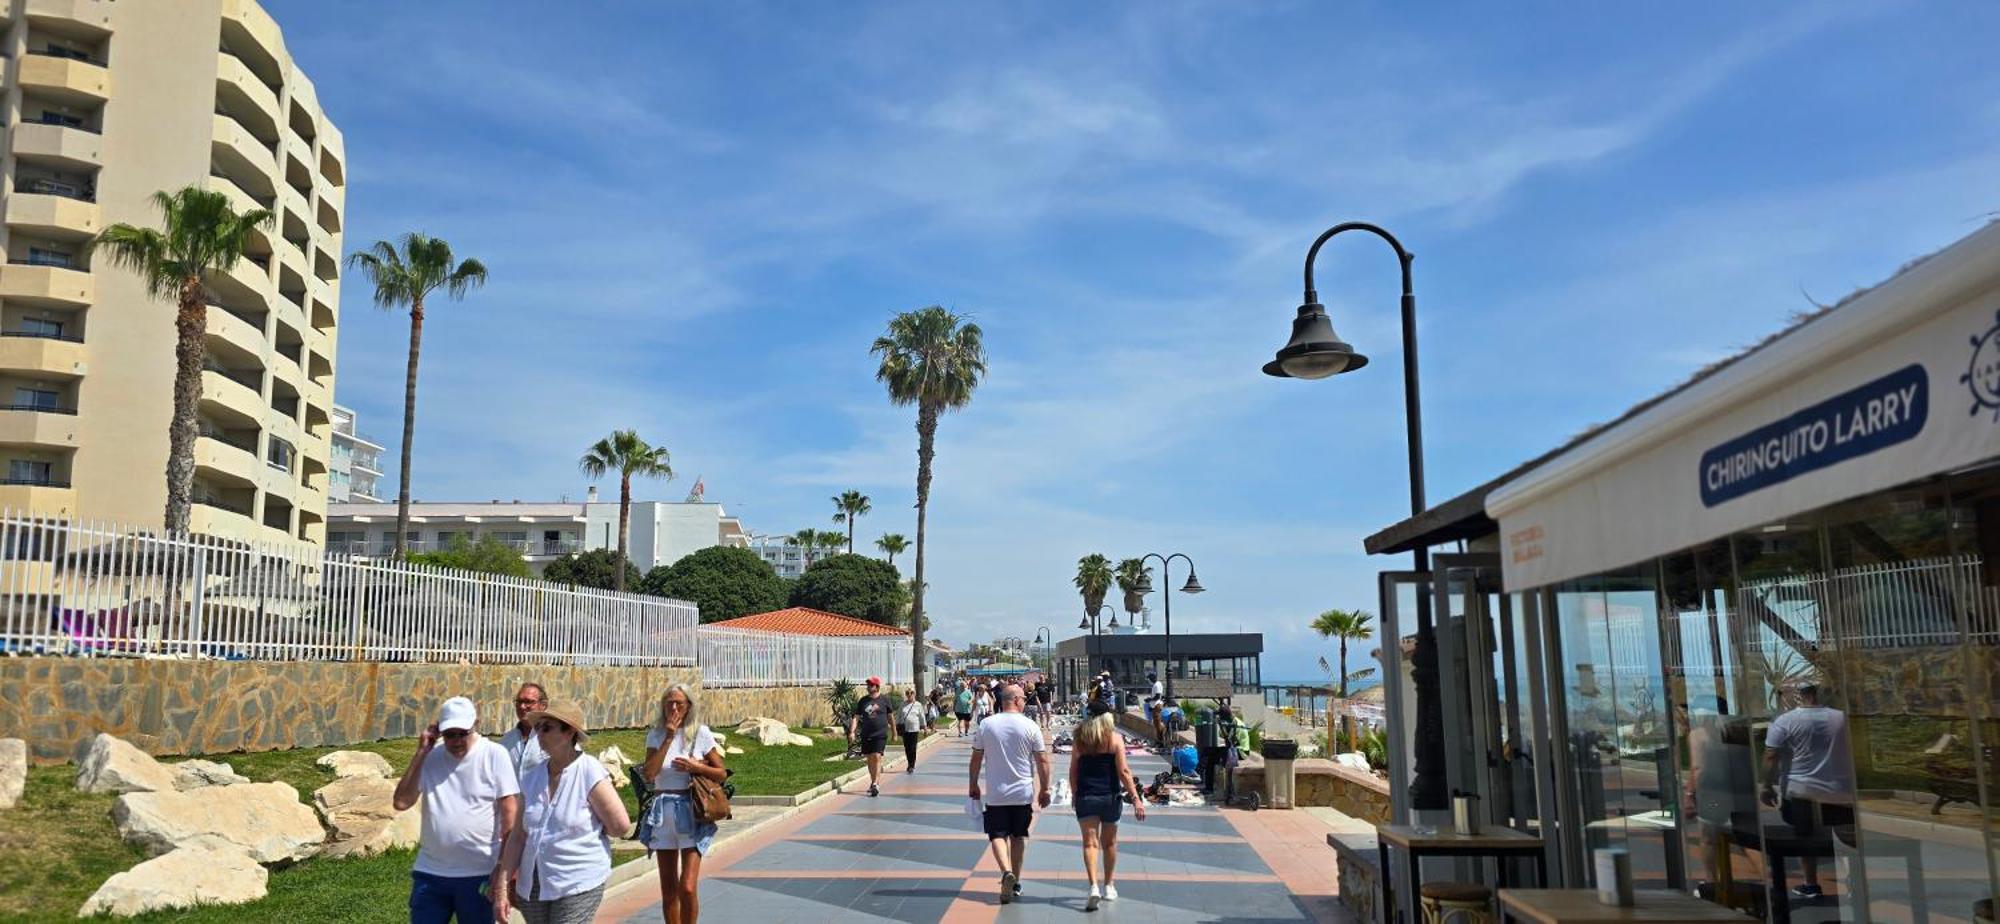
[[[2000,456],[2000,224],[1486,498],[1508,590]]]

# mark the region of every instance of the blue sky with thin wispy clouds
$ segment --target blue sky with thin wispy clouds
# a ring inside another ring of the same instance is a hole
[[[1376,608],[1406,512],[1396,264],[1320,260],[1376,364],[1258,372],[1306,244],[1416,254],[1432,500],[1972,232],[2000,190],[1984,4],[390,4],[268,0],[346,134],[356,250],[492,270],[424,340],[416,496],[580,496],[612,428],[756,532],[914,536],[870,340],[944,304],[930,610],[1074,634],[1086,552],[1180,550],[1180,632]],[[408,320],[352,280],[338,400],[394,444]],[[1176,584],[1180,576],[1176,574]],[[1158,616],[1156,616],[1158,622]]]

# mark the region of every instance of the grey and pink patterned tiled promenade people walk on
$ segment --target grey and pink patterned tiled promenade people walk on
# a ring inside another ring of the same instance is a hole
[[[964,814],[968,740],[944,740],[916,774],[884,772],[716,848],[702,876],[702,918],[716,922],[1326,922],[1334,900],[1324,822],[1308,812],[1126,806],[1118,838],[1118,900],[1084,914],[1082,840],[1068,806],[1038,812],[1024,894],[998,904],[1000,872]],[[1142,780],[1164,770],[1134,756]],[[1056,756],[1068,774],[1068,756]],[[658,882],[614,892],[598,920],[658,922]]]

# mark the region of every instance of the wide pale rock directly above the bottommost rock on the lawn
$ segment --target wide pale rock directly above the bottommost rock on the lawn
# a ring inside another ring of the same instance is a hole
[[[180,846],[236,846],[260,864],[276,864],[312,856],[326,840],[320,820],[284,782],[128,792],[112,806],[112,822],[154,856]]]

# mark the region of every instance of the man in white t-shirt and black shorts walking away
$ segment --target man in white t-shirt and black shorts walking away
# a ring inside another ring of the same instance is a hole
[[[1050,764],[1042,728],[1020,714],[1022,690],[1000,688],[1000,712],[972,734],[972,780],[966,796],[984,798],[986,840],[1000,866],[1000,904],[1020,894],[1020,864],[1028,856],[1034,806],[1048,808]],[[984,778],[984,786],[982,786]]]

